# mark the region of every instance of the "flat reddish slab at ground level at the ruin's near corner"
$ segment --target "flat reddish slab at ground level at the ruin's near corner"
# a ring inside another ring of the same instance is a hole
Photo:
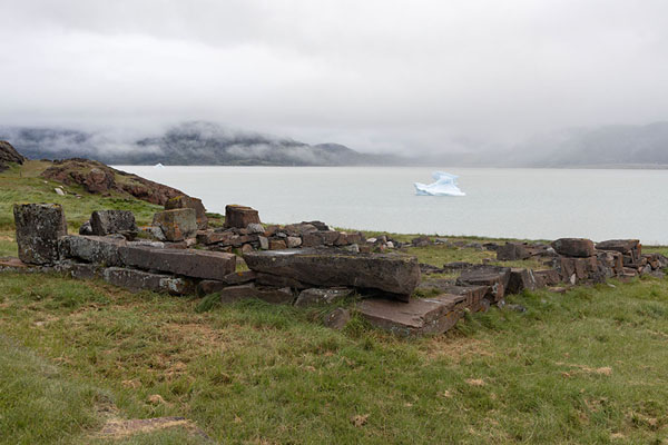
[[[440,295],[433,298],[414,298],[410,303],[370,298],[356,309],[373,326],[401,336],[442,334],[462,317],[464,297]]]

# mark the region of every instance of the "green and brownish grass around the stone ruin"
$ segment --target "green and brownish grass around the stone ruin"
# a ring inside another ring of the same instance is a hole
[[[59,201],[72,227],[96,208],[132,208],[140,221],[155,210],[52,187],[0,174],[4,255],[14,200]],[[435,265],[488,255],[412,253]],[[360,319],[330,330],[325,307],[0,274],[0,443],[668,443],[668,280],[611,285],[525,293],[509,299],[525,313],[468,315],[446,335],[405,340]],[[102,434],[159,416],[187,423]]]

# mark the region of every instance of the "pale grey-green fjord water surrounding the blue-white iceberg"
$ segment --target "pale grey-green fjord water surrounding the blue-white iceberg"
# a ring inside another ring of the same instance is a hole
[[[320,219],[404,234],[525,239],[640,238],[668,245],[667,170],[414,167],[146,167],[121,170],[203,199],[259,210],[263,221]],[[434,170],[459,175],[465,197],[415,196]]]

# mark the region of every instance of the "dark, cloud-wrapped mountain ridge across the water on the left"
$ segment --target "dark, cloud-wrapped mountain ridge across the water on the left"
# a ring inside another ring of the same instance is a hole
[[[110,165],[355,166],[389,165],[395,157],[364,155],[338,144],[308,145],[212,122],[191,121],[160,136],[120,141],[118,135],[72,129],[4,127],[9,140],[32,159],[95,158]],[[126,137],[127,139],[127,137]]]

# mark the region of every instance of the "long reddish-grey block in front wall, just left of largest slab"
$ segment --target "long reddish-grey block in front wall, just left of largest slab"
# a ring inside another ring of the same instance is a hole
[[[222,251],[128,246],[121,247],[120,253],[126,266],[193,278],[223,280],[236,269],[236,256]]]

